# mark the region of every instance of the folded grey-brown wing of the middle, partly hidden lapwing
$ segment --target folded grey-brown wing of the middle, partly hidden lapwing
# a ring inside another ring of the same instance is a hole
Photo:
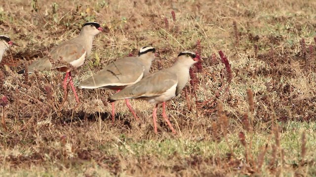
[[[101,71],[80,83],[81,89],[107,86],[129,86],[144,76],[144,66],[133,58],[113,61]]]

